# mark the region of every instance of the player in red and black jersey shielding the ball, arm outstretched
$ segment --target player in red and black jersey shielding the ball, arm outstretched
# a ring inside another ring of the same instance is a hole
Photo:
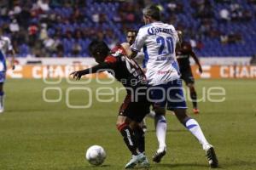
[[[105,42],[93,41],[90,42],[89,51],[98,65],[83,71],[74,71],[71,75],[79,80],[86,74],[109,71],[123,84],[127,95],[119,109],[117,128],[132,155],[131,161],[125,165],[125,168],[133,168],[138,163],[148,167],[148,159],[144,155],[144,132],[139,126],[144,116],[148,114],[150,106],[146,95],[147,80],[143,71],[133,59],[126,57],[125,49],[121,45],[110,51]]]

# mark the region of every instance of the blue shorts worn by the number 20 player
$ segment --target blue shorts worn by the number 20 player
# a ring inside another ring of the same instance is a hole
[[[174,109],[187,109],[186,100],[183,94],[182,80],[177,79],[166,84],[149,87],[150,101],[154,106],[173,111]]]

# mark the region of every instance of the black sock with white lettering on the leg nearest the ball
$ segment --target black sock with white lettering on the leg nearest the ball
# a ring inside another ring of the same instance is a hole
[[[131,130],[131,127],[127,124],[122,124],[118,127],[119,132],[124,137],[124,141],[128,149],[131,151],[131,154],[137,156],[137,141],[134,136],[134,133]]]

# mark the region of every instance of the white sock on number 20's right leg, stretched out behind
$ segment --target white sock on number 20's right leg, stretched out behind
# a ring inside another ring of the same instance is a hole
[[[202,144],[203,149],[207,150],[210,144],[207,142],[207,139],[204,133],[201,131],[201,127],[199,126],[198,122],[196,122],[195,119],[189,119],[186,122],[186,127],[195,136],[195,138],[198,139],[200,144]]]

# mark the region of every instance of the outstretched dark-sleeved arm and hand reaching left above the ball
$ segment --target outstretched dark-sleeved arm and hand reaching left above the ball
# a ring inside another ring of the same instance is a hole
[[[109,68],[110,67],[109,67],[108,63],[104,62],[100,65],[95,65],[95,66],[93,66],[89,69],[85,69],[85,70],[82,70],[82,71],[73,71],[70,75],[73,76],[73,79],[80,80],[81,77],[83,77],[84,75],[106,71]]]

